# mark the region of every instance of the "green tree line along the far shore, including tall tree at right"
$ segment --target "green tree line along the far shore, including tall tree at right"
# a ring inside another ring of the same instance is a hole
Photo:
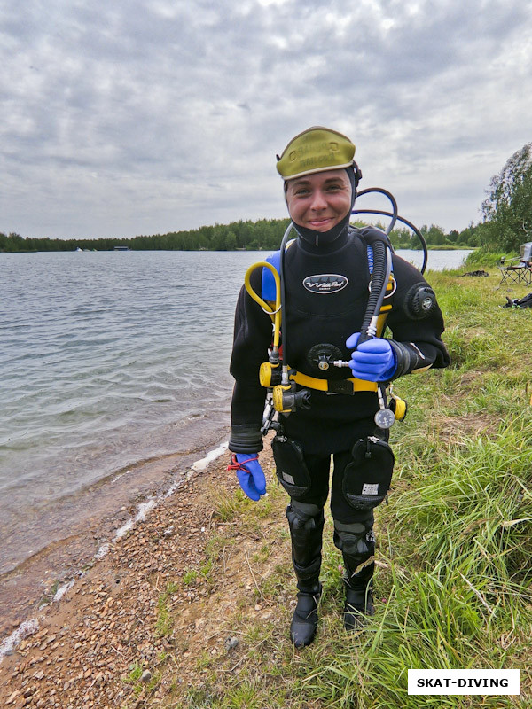
[[[471,222],[465,230],[449,233],[435,224],[423,225],[419,230],[427,245],[432,248],[481,247],[488,253],[512,253],[519,251],[520,244],[532,241],[532,143],[513,153],[501,172],[491,178],[486,193],[480,223]],[[115,246],[137,251],[273,251],[281,243],[288,223],[288,219],[240,220],[132,238],[24,238],[15,233],[0,233],[0,253],[112,251]],[[356,225],[363,223],[356,222]],[[420,248],[419,238],[407,227],[392,230],[390,238],[395,248]]]

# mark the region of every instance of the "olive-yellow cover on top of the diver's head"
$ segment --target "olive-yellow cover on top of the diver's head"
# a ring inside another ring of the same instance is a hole
[[[278,174],[284,180],[354,164],[355,145],[336,130],[313,126],[295,136],[278,158]]]

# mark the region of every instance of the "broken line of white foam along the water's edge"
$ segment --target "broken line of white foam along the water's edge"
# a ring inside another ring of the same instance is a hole
[[[219,458],[220,456],[223,456],[223,453],[227,450],[228,443],[223,443],[221,446],[218,446],[218,448],[215,448],[215,450],[211,450],[207,453],[207,456],[204,458],[201,458],[199,461],[196,461],[196,463],[191,465],[190,468],[190,473],[186,476],[186,478],[191,477],[191,473],[197,472],[197,471],[204,471],[209,464],[211,464],[216,458]],[[114,482],[114,480],[113,480]],[[160,499],[166,499],[170,495],[173,495],[176,490],[181,486],[183,482],[183,479],[180,479],[176,483],[174,483],[169,489],[166,491],[164,495],[160,497]],[[160,499],[157,499],[155,497],[150,497],[148,500],[145,501],[145,503],[140,503],[137,508],[137,514],[135,515],[134,518],[129,519],[124,525],[119,527],[116,532],[114,533],[113,536],[113,541],[118,541],[123,537],[125,534],[129,532],[129,530],[133,529],[134,526],[137,525],[138,522],[142,522],[148,514],[155,508],[157,507],[157,504],[160,502]],[[108,553],[109,549],[111,548],[111,544],[109,542],[106,542],[105,544],[102,544],[102,546],[98,549],[96,554],[93,557],[93,560],[96,561],[98,559],[101,559],[106,556]],[[83,576],[84,573],[79,572],[78,576]],[[58,603],[63,596],[74,586],[75,580],[70,580],[56,591],[55,595],[53,596],[51,603]],[[48,605],[48,604],[45,604]],[[42,608],[45,606],[41,606]],[[0,663],[2,663],[2,660],[6,655],[10,655],[12,651],[16,648],[16,646],[25,638],[27,638],[29,635],[34,635],[37,630],[39,629],[39,621],[36,618],[32,618],[29,620],[25,620],[23,623],[20,624],[20,626],[12,632],[9,637],[5,638],[2,643],[0,643]]]

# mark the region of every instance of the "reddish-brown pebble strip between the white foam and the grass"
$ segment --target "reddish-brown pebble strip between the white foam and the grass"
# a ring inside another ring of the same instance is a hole
[[[262,461],[270,471],[270,448]],[[175,650],[175,640],[158,635],[154,627],[158,599],[168,584],[175,591],[172,603],[183,608],[181,635],[203,643],[195,608],[201,598],[208,600],[207,589],[177,588],[176,583],[204,558],[207,536],[216,525],[214,491],[224,496],[238,488],[226,470],[228,462],[224,453],[191,471],[172,495],[110,544],[59,603],[36,614],[31,635],[0,663],[0,705],[125,706],[131,690],[123,678],[132,663],[153,666],[169,646]],[[182,653],[184,666],[187,654]],[[159,696],[167,691],[161,682]]]

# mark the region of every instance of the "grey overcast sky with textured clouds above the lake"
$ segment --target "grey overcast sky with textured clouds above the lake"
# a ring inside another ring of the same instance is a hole
[[[275,155],[312,125],[361,188],[462,230],[532,141],[532,3],[2,0],[0,109],[6,233],[285,217]]]

